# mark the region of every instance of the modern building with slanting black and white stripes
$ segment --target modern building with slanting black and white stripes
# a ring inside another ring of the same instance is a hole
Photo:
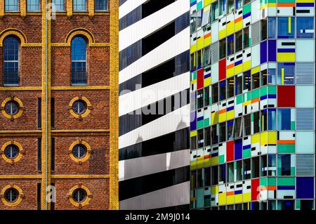
[[[189,208],[189,11],[188,0],[120,0],[120,209]]]

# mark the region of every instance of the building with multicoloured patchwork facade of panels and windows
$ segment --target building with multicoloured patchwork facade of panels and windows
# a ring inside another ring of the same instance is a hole
[[[191,0],[191,209],[315,209],[314,0]]]

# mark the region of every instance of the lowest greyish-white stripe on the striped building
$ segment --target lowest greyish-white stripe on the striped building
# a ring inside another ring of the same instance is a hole
[[[190,204],[190,181],[119,202],[120,210],[159,209]]]

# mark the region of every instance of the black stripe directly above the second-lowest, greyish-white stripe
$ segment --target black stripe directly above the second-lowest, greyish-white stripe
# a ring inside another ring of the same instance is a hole
[[[189,128],[180,129],[164,136],[145,140],[119,149],[119,160],[147,157],[154,154],[176,152],[190,148]]]

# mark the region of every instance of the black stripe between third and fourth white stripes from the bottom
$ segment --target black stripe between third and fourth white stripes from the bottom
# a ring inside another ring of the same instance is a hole
[[[150,123],[190,103],[189,88],[119,117],[119,136]],[[150,114],[144,114],[148,112]]]

